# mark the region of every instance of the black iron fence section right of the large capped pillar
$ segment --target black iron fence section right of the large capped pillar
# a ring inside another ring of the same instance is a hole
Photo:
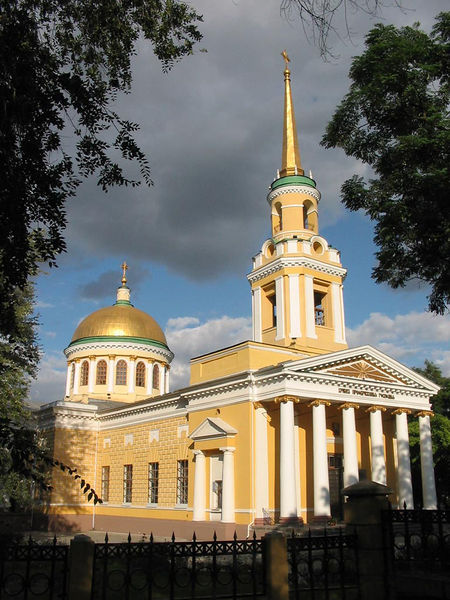
[[[383,524],[394,569],[449,572],[450,510],[389,510]]]

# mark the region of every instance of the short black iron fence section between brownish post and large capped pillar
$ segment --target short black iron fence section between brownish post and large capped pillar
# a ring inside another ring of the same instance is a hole
[[[343,534],[292,536],[287,540],[289,591],[295,600],[360,598],[357,537]]]

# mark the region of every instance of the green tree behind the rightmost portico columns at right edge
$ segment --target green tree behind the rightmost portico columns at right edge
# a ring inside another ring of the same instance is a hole
[[[438,502],[448,508],[450,506],[450,377],[444,377],[441,369],[433,362],[426,360],[423,368],[415,367],[414,371],[427,377],[441,386],[441,390],[431,398],[435,412],[431,422],[433,444],[434,474]],[[420,435],[417,419],[409,421],[409,441],[411,448],[411,472],[416,503],[421,499],[420,472]]]

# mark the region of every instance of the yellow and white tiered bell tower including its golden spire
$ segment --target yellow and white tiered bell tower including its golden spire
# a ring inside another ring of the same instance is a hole
[[[269,188],[271,237],[253,259],[253,340],[308,354],[347,348],[338,250],[319,235],[320,192],[300,161],[286,51],[281,169]]]

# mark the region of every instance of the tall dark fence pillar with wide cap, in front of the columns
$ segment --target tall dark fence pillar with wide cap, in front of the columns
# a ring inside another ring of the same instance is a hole
[[[363,480],[346,487],[344,520],[357,534],[361,600],[379,600],[386,596],[387,561],[382,511],[389,508],[392,490],[381,483]]]

